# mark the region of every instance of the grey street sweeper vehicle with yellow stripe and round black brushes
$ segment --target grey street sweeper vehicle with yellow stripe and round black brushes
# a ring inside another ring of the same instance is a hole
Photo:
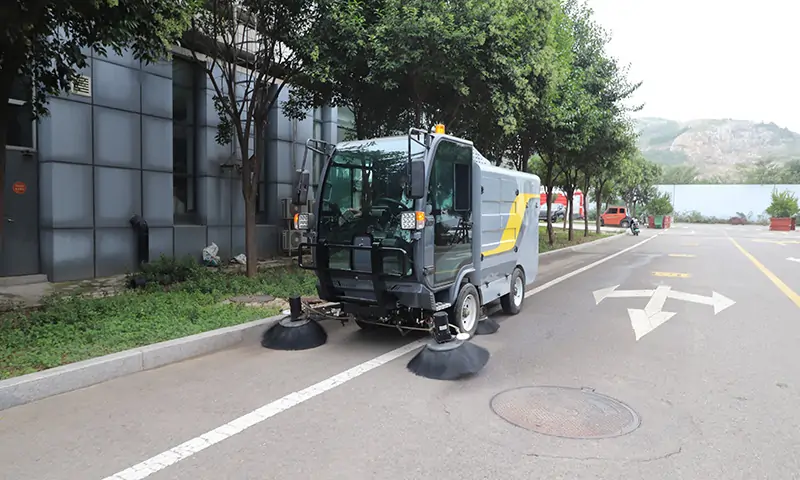
[[[315,272],[321,306],[290,299],[290,316],[263,337],[267,348],[322,345],[322,319],[361,328],[429,332],[408,364],[428,378],[477,373],[489,352],[469,342],[497,331],[486,307],[522,308],[538,270],[536,175],[494,166],[472,142],[412,128],[407,136],[306,143],[293,203],[307,202],[309,150],[325,159],[298,264]],[[311,251],[304,261],[303,250]]]

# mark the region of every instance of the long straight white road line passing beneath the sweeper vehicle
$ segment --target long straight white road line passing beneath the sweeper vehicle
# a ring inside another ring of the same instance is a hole
[[[584,267],[581,267],[574,272],[567,273],[566,275],[562,275],[554,280],[550,280],[549,282],[540,285],[532,290],[529,290],[525,293],[525,297],[530,297],[535,295],[543,290],[546,290],[553,285],[557,285],[568,278],[572,278],[575,275],[581,274],[591,268],[594,268],[602,263],[605,263],[613,258],[616,258],[626,252],[633,250],[645,243],[649,242],[650,240],[656,238],[657,236],[661,235],[661,233],[657,233],[654,236],[647,238],[635,245],[632,245],[624,250],[620,250],[617,253],[613,253],[605,258],[601,258],[600,260],[590,263]],[[109,477],[104,478],[103,480],[142,480],[144,478],[149,477],[150,475],[159,472],[170,465],[174,465],[181,460],[191,457],[192,455],[205,450],[206,448],[219,443],[223,440],[226,440],[238,433],[241,433],[247,428],[250,428],[254,425],[257,425],[269,418],[274,417],[275,415],[285,412],[286,410],[297,406],[306,400],[310,400],[317,395],[321,395],[328,390],[331,390],[339,385],[349,382],[350,380],[360,377],[361,375],[369,372],[370,370],[374,370],[382,365],[385,365],[392,360],[402,357],[403,355],[410,353],[417,348],[421,347],[427,342],[427,339],[417,340],[415,342],[411,342],[407,345],[404,345],[400,348],[396,348],[391,352],[384,353],[383,355],[373,358],[372,360],[368,360],[360,365],[356,365],[355,367],[346,370],[338,375],[334,375],[326,380],[322,380],[319,383],[311,385],[310,387],[304,388],[303,390],[299,390],[297,392],[290,393],[283,398],[279,398],[274,402],[268,403],[263,407],[260,407],[256,410],[253,410],[250,413],[242,415],[241,417],[232,420],[225,425],[215,428],[214,430],[208,431],[199,437],[195,437],[189,441],[186,441],[176,447],[170,448],[169,450],[159,453],[154,457],[150,457],[147,460],[138,463],[130,468],[126,468],[121,472],[117,472]]]

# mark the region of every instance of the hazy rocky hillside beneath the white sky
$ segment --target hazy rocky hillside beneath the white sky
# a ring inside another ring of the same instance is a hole
[[[800,158],[800,134],[774,123],[652,117],[637,123],[646,158],[662,165],[693,165],[702,176],[726,175],[740,163]]]

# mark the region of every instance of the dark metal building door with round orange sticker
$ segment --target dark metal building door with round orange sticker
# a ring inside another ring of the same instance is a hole
[[[6,150],[0,276],[39,272],[39,165],[35,153]]]

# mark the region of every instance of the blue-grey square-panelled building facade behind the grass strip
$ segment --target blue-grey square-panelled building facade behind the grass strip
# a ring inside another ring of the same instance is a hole
[[[148,224],[151,260],[199,259],[211,242],[223,261],[244,253],[241,181],[225,166],[235,147],[216,142],[213,87],[187,53],[149,65],[130,54],[92,55],[81,72],[88,82],[50,99],[49,116],[33,123],[21,113],[12,122],[0,276],[43,273],[59,282],[132,271],[133,215]],[[280,103],[288,94],[284,88],[265,139],[260,256],[282,251],[289,222],[281,199],[291,195],[306,140],[340,141],[352,122],[349,111],[336,108],[287,119]],[[314,162],[316,182],[319,158]]]

